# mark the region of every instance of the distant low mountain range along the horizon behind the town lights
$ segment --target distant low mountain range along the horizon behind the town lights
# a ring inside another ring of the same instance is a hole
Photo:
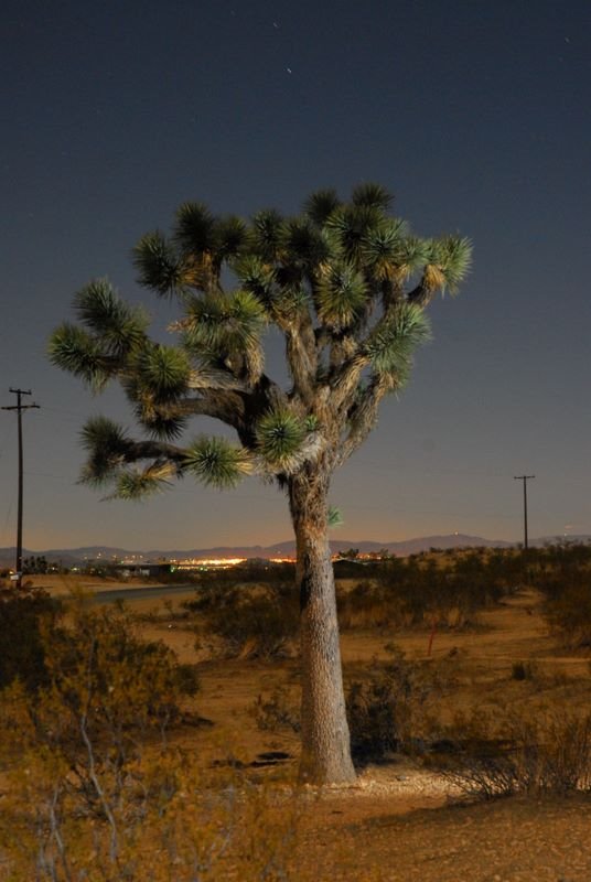
[[[530,545],[544,545],[546,542],[556,542],[563,540],[565,537],[542,537],[540,539],[531,539]],[[569,536],[570,541],[590,541],[591,536]],[[407,555],[416,555],[420,551],[427,551],[429,548],[476,548],[484,546],[486,548],[511,548],[516,542],[506,542],[502,539],[484,539],[482,536],[466,536],[464,534],[453,533],[449,536],[421,536],[416,539],[406,539],[399,542],[372,542],[372,541],[355,541],[350,539],[331,539],[331,548],[334,553],[346,551],[350,548],[357,548],[362,555],[387,549],[391,555],[398,557],[406,557]],[[14,548],[0,548],[0,566],[10,567],[14,562]],[[139,558],[144,561],[157,561],[162,558],[170,559],[185,559],[185,558],[283,558],[296,556],[296,542],[290,539],[286,542],[277,542],[270,546],[217,546],[215,548],[190,548],[179,550],[160,550],[152,549],[150,551],[130,550],[128,548],[114,548],[104,545],[85,546],[82,548],[50,548],[43,551],[32,551],[26,548],[23,549],[23,557],[43,555],[49,561],[62,563],[66,567],[74,567],[88,560],[101,559],[106,561],[111,560],[130,560]]]

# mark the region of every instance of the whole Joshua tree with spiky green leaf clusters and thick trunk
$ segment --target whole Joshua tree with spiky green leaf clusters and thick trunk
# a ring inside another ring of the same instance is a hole
[[[184,475],[232,487],[256,474],[286,492],[301,601],[301,774],[315,782],[355,774],[327,541],[331,477],[374,428],[384,396],[402,387],[429,337],[426,308],[454,293],[470,266],[466,239],[419,239],[390,203],[375,184],[348,202],[314,193],[294,217],[216,217],[184,203],[170,237],[149,233],[133,251],[139,283],[178,302],[175,343],[150,340],[143,311],[106,280],[76,294],[79,324],[62,324],[50,343],[51,361],[93,391],[119,380],[143,430],[135,440],[90,419],[86,483],[136,499]],[[270,324],[284,338],[289,388],[265,373]],[[230,426],[237,443],[187,439],[201,415]]]

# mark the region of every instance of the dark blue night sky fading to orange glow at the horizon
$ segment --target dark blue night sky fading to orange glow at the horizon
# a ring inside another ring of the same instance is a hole
[[[335,477],[335,537],[517,540],[523,473],[530,536],[591,534],[589,0],[4,0],[0,26],[0,405],[12,386],[41,406],[24,415],[28,548],[290,538],[284,497],[255,478],[143,504],[77,485],[86,418],[131,417],[52,367],[46,342],[99,276],[163,333],[173,310],[129,255],[182,201],[293,213],[362,181],[418,235],[469,236],[474,269]],[[17,420],[0,411],[0,546],[15,512]]]

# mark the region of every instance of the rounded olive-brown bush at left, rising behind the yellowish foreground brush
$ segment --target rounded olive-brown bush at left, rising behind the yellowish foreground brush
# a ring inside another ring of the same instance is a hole
[[[65,624],[44,621],[40,635],[47,681],[34,693],[24,687],[19,692],[19,686],[0,693],[21,732],[15,742],[9,730],[4,746],[18,752],[42,745],[71,770],[68,784],[88,806],[108,815],[99,777],[116,799],[138,744],[165,741],[182,696],[198,688],[196,676],[164,644],[142,641],[125,611],[97,611],[80,601]]]

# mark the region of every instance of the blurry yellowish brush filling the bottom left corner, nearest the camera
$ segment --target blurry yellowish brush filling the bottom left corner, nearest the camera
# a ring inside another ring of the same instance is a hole
[[[97,754],[99,756],[99,754]],[[289,882],[300,803],[195,752],[146,750],[108,815],[88,811],[72,773],[42,745],[8,776],[0,814],[2,879],[37,882]]]

